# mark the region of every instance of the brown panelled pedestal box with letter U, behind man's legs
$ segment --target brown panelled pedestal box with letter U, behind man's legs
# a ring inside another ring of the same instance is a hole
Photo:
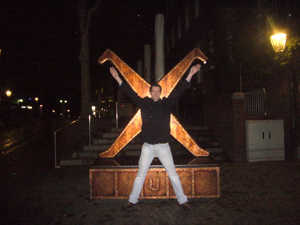
[[[128,199],[138,166],[98,166],[90,169],[91,199]],[[176,166],[188,198],[220,197],[220,168],[212,165]],[[140,199],[176,198],[163,166],[150,166]]]

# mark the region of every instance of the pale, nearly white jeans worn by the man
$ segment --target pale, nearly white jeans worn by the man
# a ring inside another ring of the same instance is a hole
[[[138,202],[137,198],[140,196],[147,171],[155,155],[161,161],[165,170],[168,173],[179,204],[187,202],[187,196],[183,193],[179,176],[175,170],[169,143],[150,145],[146,142],[143,144],[142,147],[142,152],[139,161],[139,170],[137,172],[137,177],[134,180],[132,192],[129,195],[128,201],[134,204]]]

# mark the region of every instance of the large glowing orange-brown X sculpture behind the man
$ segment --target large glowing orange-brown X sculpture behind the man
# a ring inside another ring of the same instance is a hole
[[[207,57],[198,49],[193,49],[190,54],[188,54],[179,64],[177,64],[167,75],[165,75],[158,84],[162,87],[161,97],[168,97],[171,91],[175,88],[179,80],[182,78],[186,70],[192,64],[192,62],[199,58],[202,61],[206,61]],[[141,76],[139,76],[133,69],[131,69],[125,62],[123,62],[115,53],[110,49],[107,49],[103,55],[98,59],[100,64],[105,61],[110,60],[115,67],[122,74],[124,79],[128,82],[131,88],[137,92],[137,94],[144,98],[150,96],[149,87],[150,84],[146,82]],[[120,152],[135,136],[141,132],[142,118],[141,110],[138,110],[128,125],[121,132],[119,137],[110,146],[110,148],[101,152],[99,156],[101,158],[112,158],[118,152]],[[171,135],[179,141],[188,151],[190,151],[194,156],[208,156],[209,152],[201,149],[193,138],[184,130],[180,122],[175,118],[173,113],[171,113]]]

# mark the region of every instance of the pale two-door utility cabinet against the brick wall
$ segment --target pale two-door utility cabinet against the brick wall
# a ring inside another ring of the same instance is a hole
[[[247,161],[284,160],[283,120],[246,120]]]

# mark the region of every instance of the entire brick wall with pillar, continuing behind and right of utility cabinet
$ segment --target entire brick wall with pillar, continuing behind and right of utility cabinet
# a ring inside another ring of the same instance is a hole
[[[298,107],[299,110],[299,107]],[[290,113],[264,115],[245,115],[244,94],[218,95],[204,100],[204,121],[216,137],[224,153],[232,161],[246,160],[246,127],[245,120],[282,119],[284,121],[285,157],[293,157],[292,142],[299,143],[300,132],[295,130],[292,138],[292,116]],[[298,111],[299,113],[299,111]],[[296,118],[295,118],[296,119]],[[296,123],[297,121],[295,121]],[[299,120],[298,120],[299,122]],[[298,135],[298,136],[297,136]]]

